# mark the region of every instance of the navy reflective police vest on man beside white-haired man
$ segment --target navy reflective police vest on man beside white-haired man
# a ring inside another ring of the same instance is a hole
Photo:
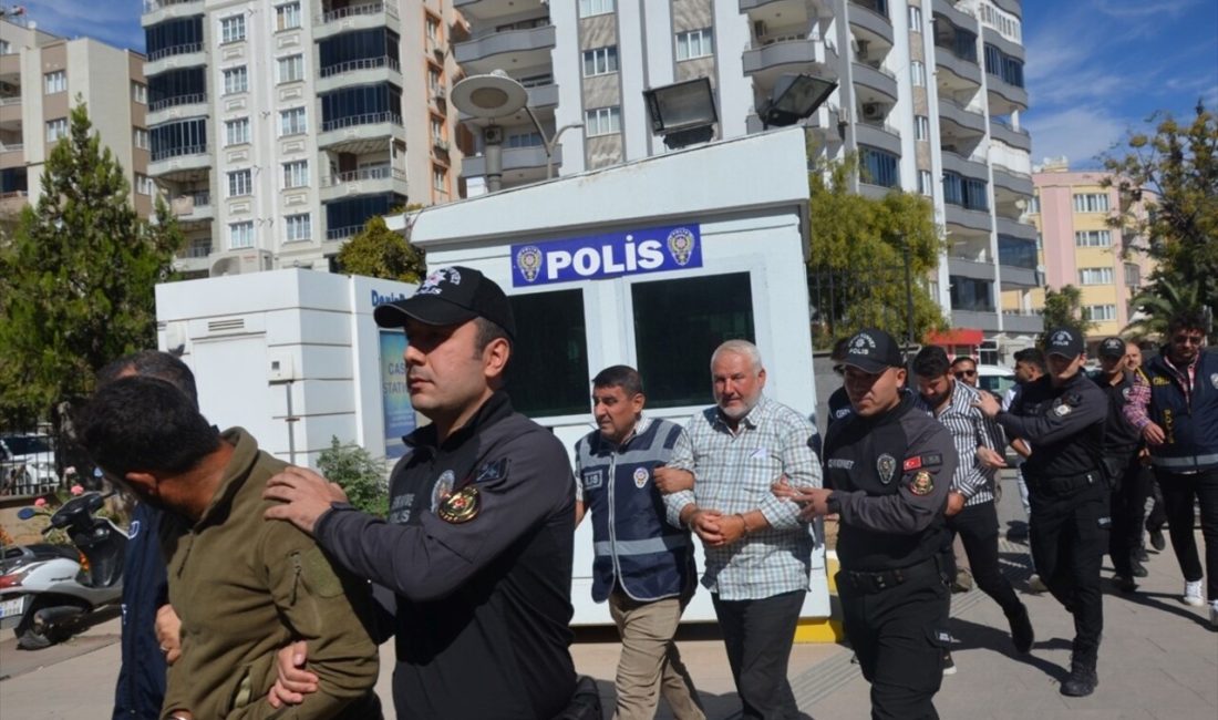
[[[621,446],[593,430],[575,446],[583,503],[592,513],[592,599],[604,602],[616,581],[631,598],[681,593],[693,577],[689,531],[665,520],[652,470],[672,456],[681,426],[643,419]]]

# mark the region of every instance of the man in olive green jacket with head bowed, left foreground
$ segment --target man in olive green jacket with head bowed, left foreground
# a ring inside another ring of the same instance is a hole
[[[318,691],[292,718],[380,718],[367,582],[336,570],[313,540],[266,523],[267,480],[285,463],[245,430],[220,434],[178,389],[124,378],[100,389],[78,437],[106,476],[167,510],[162,548],[181,657],[166,720],[280,716],[263,698],[275,652],[307,642]]]

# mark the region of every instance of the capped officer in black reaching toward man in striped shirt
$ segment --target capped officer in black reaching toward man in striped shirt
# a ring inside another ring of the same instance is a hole
[[[1062,694],[1095,692],[1104,605],[1100,563],[1108,548],[1110,489],[1101,471],[1108,398],[1082,373],[1083,335],[1057,328],[1045,347],[1049,373],[1026,385],[1010,412],[983,392],[977,407],[1010,437],[1032,445],[1023,464],[1032,503],[1030,542],[1049,591],[1074,615],[1069,677]]]

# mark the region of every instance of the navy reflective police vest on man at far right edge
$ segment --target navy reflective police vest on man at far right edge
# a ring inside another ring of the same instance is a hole
[[[1150,418],[1164,436],[1163,445],[1150,448],[1155,467],[1173,473],[1218,468],[1218,353],[1200,353],[1188,397],[1163,355],[1146,363],[1146,379]]]

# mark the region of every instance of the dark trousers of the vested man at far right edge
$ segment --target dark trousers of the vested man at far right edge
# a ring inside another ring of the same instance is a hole
[[[1218,468],[1185,475],[1155,468],[1163,491],[1167,529],[1172,534],[1172,549],[1180,563],[1180,573],[1189,582],[1201,580],[1201,559],[1192,535],[1192,501],[1201,503],[1201,537],[1206,542],[1207,595],[1218,601]]]

